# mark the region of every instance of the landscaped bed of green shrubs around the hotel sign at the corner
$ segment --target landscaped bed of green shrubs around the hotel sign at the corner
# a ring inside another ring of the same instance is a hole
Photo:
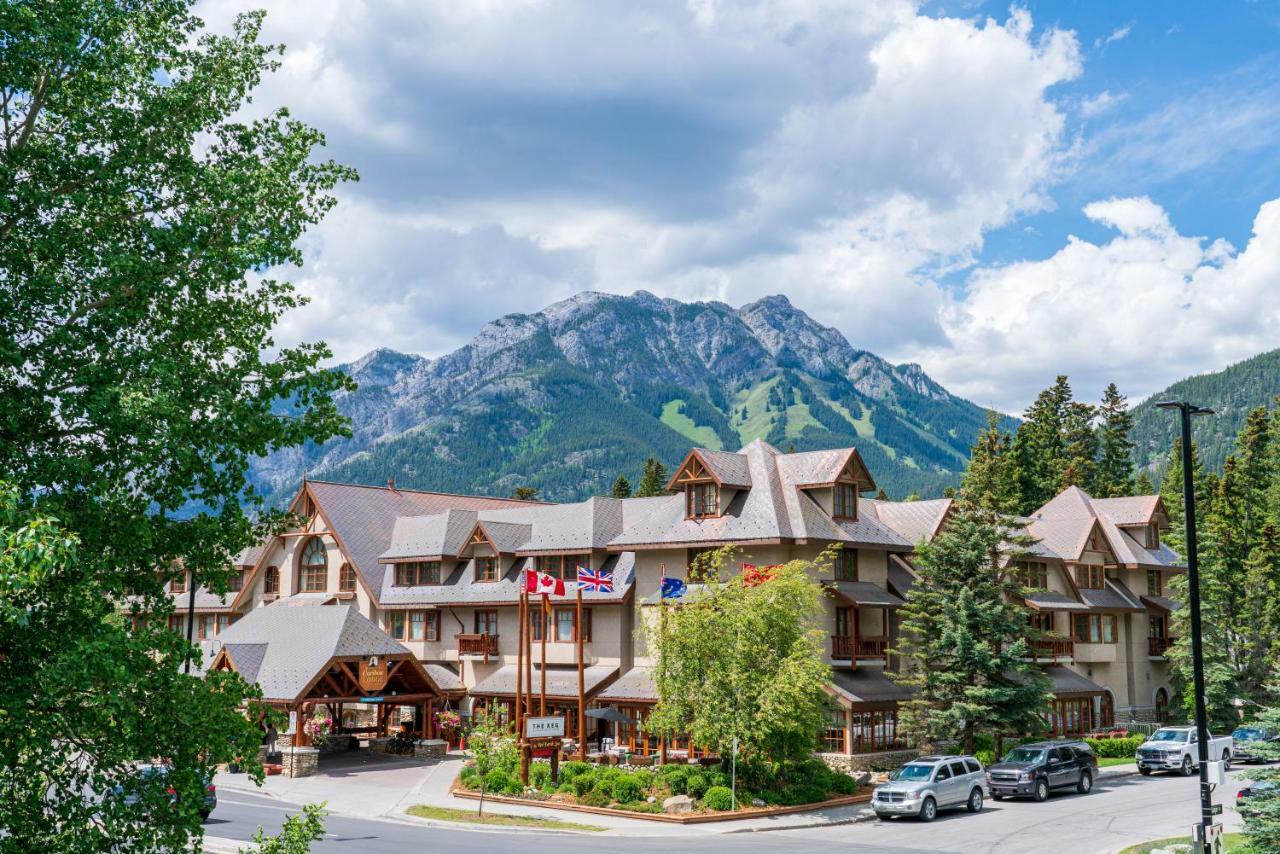
[[[470,764],[458,777],[467,793],[480,791],[480,776]],[[586,762],[561,764],[561,778],[553,782],[550,764],[534,762],[529,786],[521,785],[515,763],[507,759],[484,778],[485,793],[544,803],[548,807],[608,809],[636,816],[664,814],[663,802],[685,795],[692,816],[732,814],[730,775],[719,768],[667,764],[658,768],[594,766]],[[737,812],[805,808],[849,799],[858,794],[852,777],[832,771],[822,762],[773,766],[739,766]],[[771,809],[773,808],[773,809]]]

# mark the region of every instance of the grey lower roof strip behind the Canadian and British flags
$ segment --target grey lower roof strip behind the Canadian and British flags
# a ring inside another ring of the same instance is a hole
[[[517,557],[506,566],[506,571],[497,581],[476,581],[474,560],[453,560],[440,567],[440,584],[416,586],[397,586],[396,574],[387,572],[379,590],[379,604],[392,609],[413,606],[515,604],[520,598],[520,574],[522,570],[534,568],[534,565],[532,557]],[[613,574],[613,592],[584,590],[582,602],[588,604],[622,602],[630,595],[635,581],[634,553],[609,554],[603,563],[593,568]],[[575,581],[564,584],[566,602],[573,600],[576,595],[573,584]]]

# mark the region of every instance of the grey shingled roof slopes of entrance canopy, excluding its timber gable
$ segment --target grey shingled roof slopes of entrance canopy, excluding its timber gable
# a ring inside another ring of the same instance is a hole
[[[255,608],[219,634],[232,665],[243,663],[268,700],[296,700],[340,657],[412,658],[353,604]]]

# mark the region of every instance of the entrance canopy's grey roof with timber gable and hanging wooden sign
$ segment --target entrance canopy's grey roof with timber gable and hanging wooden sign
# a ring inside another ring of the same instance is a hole
[[[234,670],[273,705],[438,697],[413,654],[353,604],[255,608],[219,636],[209,670]]]

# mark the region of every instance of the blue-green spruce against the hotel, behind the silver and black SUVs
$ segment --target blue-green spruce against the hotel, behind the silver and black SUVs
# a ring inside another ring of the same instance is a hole
[[[979,734],[1044,727],[1050,685],[1025,661],[1029,613],[1002,566],[1010,539],[1019,538],[998,515],[961,501],[920,549],[896,650],[911,666],[893,679],[915,689],[902,727],[928,745],[960,739],[973,753]]]

